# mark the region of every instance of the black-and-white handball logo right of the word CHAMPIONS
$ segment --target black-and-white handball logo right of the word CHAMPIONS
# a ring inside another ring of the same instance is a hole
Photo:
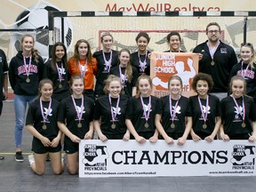
[[[255,146],[235,145],[230,162],[235,170],[254,170]]]

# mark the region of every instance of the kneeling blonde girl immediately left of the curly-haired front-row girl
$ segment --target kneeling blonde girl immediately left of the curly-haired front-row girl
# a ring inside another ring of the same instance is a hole
[[[167,144],[177,140],[183,145],[188,138],[192,126],[188,98],[180,95],[182,80],[180,76],[172,76],[168,81],[170,95],[160,98],[156,108],[156,128]]]

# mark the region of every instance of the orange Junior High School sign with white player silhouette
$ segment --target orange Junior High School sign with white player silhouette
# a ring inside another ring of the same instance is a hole
[[[182,95],[189,97],[192,90],[192,78],[198,73],[198,54],[189,52],[153,52],[150,56],[150,77],[152,94],[163,97],[169,94],[168,80],[171,76],[182,79]]]

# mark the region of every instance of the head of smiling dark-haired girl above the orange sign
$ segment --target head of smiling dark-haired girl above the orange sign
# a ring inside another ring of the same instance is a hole
[[[181,37],[180,33],[177,31],[172,31],[170,34],[168,34],[167,43],[170,49],[165,52],[183,52],[180,50]]]

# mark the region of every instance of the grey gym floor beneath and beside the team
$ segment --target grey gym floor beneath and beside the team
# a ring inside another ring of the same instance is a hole
[[[88,192],[254,192],[256,177],[155,177],[155,178],[79,178],[69,175],[67,169],[61,175],[53,175],[47,162],[43,176],[37,176],[28,164],[32,136],[24,128],[22,150],[23,163],[14,160],[14,108],[13,100],[4,101],[0,117],[0,192],[7,191],[88,191]]]

